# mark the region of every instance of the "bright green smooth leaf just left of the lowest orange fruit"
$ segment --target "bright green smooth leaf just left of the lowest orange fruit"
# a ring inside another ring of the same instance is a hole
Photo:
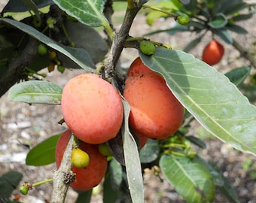
[[[55,148],[58,139],[59,135],[53,135],[29,150],[26,156],[26,165],[48,165],[55,162]]]

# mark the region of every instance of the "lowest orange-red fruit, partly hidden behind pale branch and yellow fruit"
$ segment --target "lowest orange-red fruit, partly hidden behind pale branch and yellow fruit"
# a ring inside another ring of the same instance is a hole
[[[57,168],[59,168],[62,156],[69,142],[69,134],[69,130],[63,132],[56,144],[55,157]],[[77,190],[88,190],[97,186],[102,181],[102,178],[105,176],[105,171],[107,170],[108,162],[105,156],[99,153],[97,144],[86,144],[82,142],[80,148],[88,153],[90,163],[87,165],[87,168],[72,168],[72,171],[76,175],[75,181],[70,183],[69,186]]]

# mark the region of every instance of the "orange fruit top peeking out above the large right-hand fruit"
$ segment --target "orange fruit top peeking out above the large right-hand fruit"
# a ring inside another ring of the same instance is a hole
[[[144,63],[142,62],[142,59],[140,57],[136,58],[132,64],[130,65],[130,68],[127,72],[127,76],[139,76],[141,74],[145,73],[153,73],[150,68],[148,68]]]

